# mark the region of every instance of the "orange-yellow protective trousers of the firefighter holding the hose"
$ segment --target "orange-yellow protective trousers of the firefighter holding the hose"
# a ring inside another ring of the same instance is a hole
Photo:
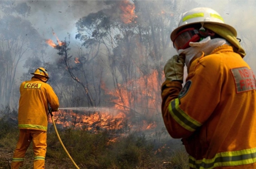
[[[11,169],[18,169],[23,164],[25,153],[31,141],[33,142],[34,151],[34,169],[45,168],[46,131],[20,129]]]

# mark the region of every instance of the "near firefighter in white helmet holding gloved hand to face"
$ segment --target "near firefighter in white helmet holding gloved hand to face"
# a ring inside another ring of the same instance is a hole
[[[162,117],[191,169],[256,169],[256,79],[236,37],[210,8],[183,13],[171,33],[178,55],[164,67]]]

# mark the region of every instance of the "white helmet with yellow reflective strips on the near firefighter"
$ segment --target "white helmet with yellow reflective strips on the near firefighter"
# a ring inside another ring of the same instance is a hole
[[[178,28],[174,29],[174,31],[171,32],[171,41],[174,41],[177,32],[181,28],[196,23],[214,23],[217,25],[221,25],[225,28],[228,28],[235,35],[235,37],[237,37],[237,31],[235,30],[235,28],[225,24],[223,18],[219,15],[219,13],[211,8],[198,7],[182,14],[182,19],[180,20]]]

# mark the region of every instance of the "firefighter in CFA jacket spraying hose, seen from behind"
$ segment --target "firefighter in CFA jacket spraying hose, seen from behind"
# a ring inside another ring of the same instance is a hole
[[[34,169],[45,168],[46,131],[48,125],[48,104],[52,111],[58,111],[59,101],[45,68],[38,68],[31,80],[21,83],[18,127],[19,140],[13,154],[11,169],[22,165],[30,143],[33,143]]]

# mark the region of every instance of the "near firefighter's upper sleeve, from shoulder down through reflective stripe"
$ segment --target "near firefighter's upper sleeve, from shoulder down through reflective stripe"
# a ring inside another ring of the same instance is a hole
[[[171,117],[192,133],[207,121],[220,102],[223,82],[221,66],[222,57],[218,55],[195,60],[178,98],[169,104]]]

